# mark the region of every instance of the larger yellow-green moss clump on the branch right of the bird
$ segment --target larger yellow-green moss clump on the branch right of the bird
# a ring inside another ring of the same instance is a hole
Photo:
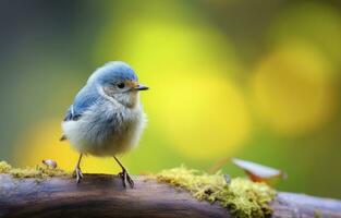
[[[234,217],[270,217],[268,203],[276,195],[275,190],[264,183],[247,179],[232,179],[228,184],[223,174],[206,174],[185,167],[163,170],[156,174],[160,182],[185,189],[198,199],[219,202]]]

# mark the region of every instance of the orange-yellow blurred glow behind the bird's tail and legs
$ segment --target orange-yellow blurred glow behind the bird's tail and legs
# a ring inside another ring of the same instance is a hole
[[[53,159],[62,169],[72,171],[76,165],[78,154],[73,150],[69,142],[60,142],[61,128],[59,120],[37,123],[25,131],[15,146],[13,160],[16,166],[35,166],[42,159]],[[84,172],[118,173],[119,167],[113,158],[96,158],[85,156],[82,160]]]

